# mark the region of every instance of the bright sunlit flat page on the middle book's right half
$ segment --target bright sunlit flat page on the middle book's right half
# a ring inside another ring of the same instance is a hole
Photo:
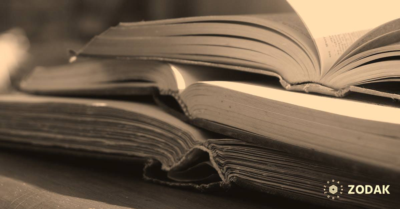
[[[259,84],[255,82],[209,81],[201,83],[220,86],[222,88],[243,92],[261,98],[267,98],[338,115],[400,124],[400,120],[398,119],[400,118],[400,109],[395,107],[368,104],[366,102],[358,102],[342,98],[331,98],[314,94],[291,92],[269,84]]]

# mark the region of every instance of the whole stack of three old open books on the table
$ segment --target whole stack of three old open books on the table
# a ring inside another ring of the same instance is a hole
[[[171,186],[396,207],[400,19],[310,31],[296,13],[121,23],[0,96],[0,139],[142,157]]]

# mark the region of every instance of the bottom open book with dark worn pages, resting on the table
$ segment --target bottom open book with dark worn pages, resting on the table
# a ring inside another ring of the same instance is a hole
[[[396,179],[226,138],[150,102],[12,94],[0,96],[0,107],[1,118],[8,118],[0,120],[2,144],[148,159],[144,178],[157,183],[202,191],[239,186],[336,207],[399,203]],[[324,192],[327,181],[339,188],[335,195]],[[350,195],[347,184],[390,184],[393,195]]]

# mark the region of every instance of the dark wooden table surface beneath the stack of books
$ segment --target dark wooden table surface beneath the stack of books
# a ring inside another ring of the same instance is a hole
[[[157,185],[142,179],[142,167],[137,160],[1,148],[0,208],[312,207],[238,188],[200,193]]]

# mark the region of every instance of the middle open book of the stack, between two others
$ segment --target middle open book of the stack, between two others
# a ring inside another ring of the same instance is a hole
[[[37,68],[20,88],[64,96],[152,95],[181,120],[214,132],[355,171],[400,171],[398,102],[291,92],[261,78],[222,68],[96,58]]]

